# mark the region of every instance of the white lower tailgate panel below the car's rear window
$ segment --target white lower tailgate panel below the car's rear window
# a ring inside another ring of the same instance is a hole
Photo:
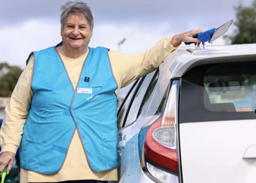
[[[183,181],[252,183],[256,180],[255,120],[207,121],[180,124]]]

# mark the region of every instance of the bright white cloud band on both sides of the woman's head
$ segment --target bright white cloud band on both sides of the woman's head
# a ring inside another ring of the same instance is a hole
[[[191,23],[195,26],[197,23]],[[190,25],[190,24],[189,24]],[[192,27],[189,26],[188,27]],[[175,23],[160,22],[152,25],[139,23],[106,22],[96,23],[90,47],[108,47],[124,53],[143,53],[153,47],[161,38],[184,32],[175,29]],[[30,52],[45,49],[61,41],[60,23],[49,19],[29,21],[0,29],[0,62],[25,67]],[[118,43],[126,41],[118,47]],[[221,40],[218,40],[221,41]],[[223,40],[216,44],[224,44]]]

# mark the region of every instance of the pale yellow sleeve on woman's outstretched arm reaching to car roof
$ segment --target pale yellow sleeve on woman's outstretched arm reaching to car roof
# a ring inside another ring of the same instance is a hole
[[[176,49],[171,45],[172,37],[163,38],[154,47],[141,54],[124,54],[109,51],[109,58],[114,77],[118,84],[118,93],[121,87],[125,87],[135,79],[144,76],[156,68],[163,60]]]

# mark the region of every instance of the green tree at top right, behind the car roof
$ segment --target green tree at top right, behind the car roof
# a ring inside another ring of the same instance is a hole
[[[227,43],[247,44],[256,43],[256,0],[251,7],[244,7],[240,4],[234,7],[236,11],[236,29],[233,34],[223,36]]]

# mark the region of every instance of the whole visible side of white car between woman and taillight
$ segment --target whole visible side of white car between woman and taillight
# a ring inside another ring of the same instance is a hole
[[[169,70],[163,63],[158,70],[139,79],[121,104],[117,120],[119,183],[155,183],[141,167],[145,140],[145,133],[141,132],[145,132],[147,126],[163,112],[170,84],[170,74],[167,72]]]

